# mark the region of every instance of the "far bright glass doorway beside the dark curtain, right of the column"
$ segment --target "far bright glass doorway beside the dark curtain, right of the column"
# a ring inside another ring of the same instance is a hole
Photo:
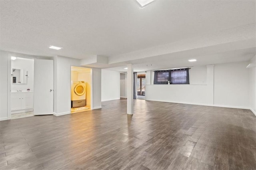
[[[137,99],[145,99],[146,73],[137,74]]]

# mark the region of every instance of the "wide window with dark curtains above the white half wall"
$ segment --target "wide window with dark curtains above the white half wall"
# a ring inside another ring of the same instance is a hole
[[[189,84],[189,68],[155,71],[154,84]]]

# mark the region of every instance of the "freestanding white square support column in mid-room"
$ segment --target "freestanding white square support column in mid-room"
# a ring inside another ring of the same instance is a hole
[[[127,67],[127,114],[133,115],[133,65]]]

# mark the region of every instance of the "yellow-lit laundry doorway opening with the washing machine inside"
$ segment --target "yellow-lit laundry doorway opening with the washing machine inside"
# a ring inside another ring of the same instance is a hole
[[[71,67],[71,113],[91,110],[92,69]]]

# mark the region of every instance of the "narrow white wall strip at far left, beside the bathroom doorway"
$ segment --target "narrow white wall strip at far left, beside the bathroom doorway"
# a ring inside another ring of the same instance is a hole
[[[10,57],[8,52],[0,51],[0,121],[8,119],[8,63],[10,63]]]

